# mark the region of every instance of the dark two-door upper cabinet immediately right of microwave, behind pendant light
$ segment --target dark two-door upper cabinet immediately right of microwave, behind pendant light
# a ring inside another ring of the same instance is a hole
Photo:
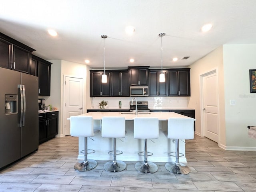
[[[163,71],[165,82],[159,82],[159,74],[161,70],[149,71],[149,96],[167,96],[167,71]]]

